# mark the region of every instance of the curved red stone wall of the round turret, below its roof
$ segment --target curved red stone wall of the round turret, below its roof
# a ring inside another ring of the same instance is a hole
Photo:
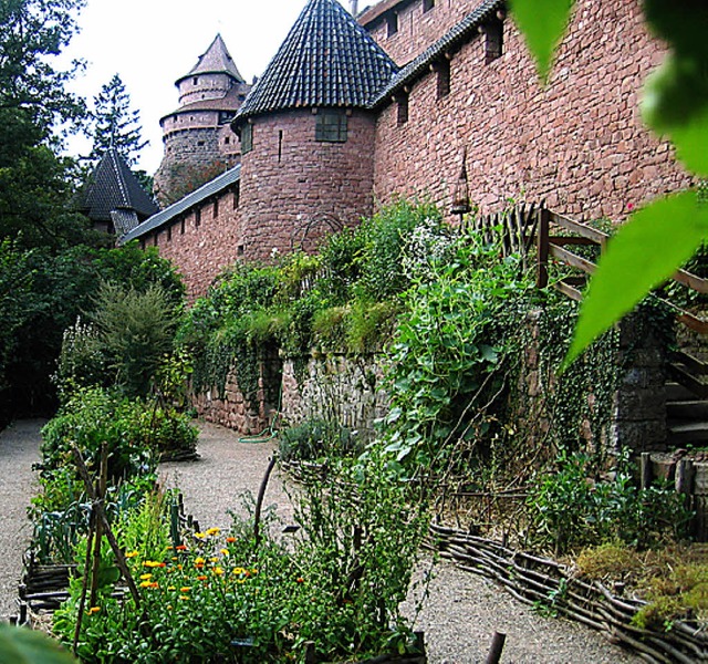
[[[374,134],[374,117],[362,112],[348,118],[346,143],[316,142],[310,110],[256,117],[253,149],[241,157],[244,259],[313,250],[371,215]]]

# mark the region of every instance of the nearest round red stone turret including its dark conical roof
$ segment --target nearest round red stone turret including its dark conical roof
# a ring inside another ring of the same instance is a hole
[[[336,0],[310,0],[239,108],[242,255],[311,250],[373,210],[371,101],[397,69]]]

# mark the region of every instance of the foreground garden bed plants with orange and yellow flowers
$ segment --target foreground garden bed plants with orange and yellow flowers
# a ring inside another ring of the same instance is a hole
[[[256,539],[252,520],[236,516],[228,531],[209,528],[177,543],[164,511],[137,526],[134,510],[117,532],[140,605],[113,596],[117,574],[106,550],[77,653],[85,662],[229,661],[239,643],[243,662],[302,662],[308,641],[326,661],[406,652],[413,635],[399,603],[427,523],[424,509],[406,507],[407,492],[373,457],[334,463],[329,479],[300,492],[303,536],[288,546],[268,535],[268,519]],[[140,537],[146,531],[153,537]],[[80,566],[84,557],[80,543]],[[67,645],[81,589],[77,577],[54,615]]]

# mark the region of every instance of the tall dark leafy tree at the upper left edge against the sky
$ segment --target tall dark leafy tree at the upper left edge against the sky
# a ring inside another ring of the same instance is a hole
[[[63,131],[85,115],[65,91],[81,63],[54,68],[76,32],[84,0],[0,0],[0,239],[65,246],[85,225],[66,211],[72,162],[60,158]]]

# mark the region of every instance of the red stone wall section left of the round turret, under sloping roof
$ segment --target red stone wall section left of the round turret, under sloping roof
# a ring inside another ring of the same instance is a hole
[[[163,229],[157,238],[147,238],[146,243],[155,243],[163,258],[171,260],[185,277],[187,297],[190,302],[204,295],[226,267],[239,256],[243,232],[238,208],[235,209],[233,193],[227,191],[218,200],[215,217],[214,200],[202,204],[201,219],[197,227],[196,211],[189,210],[183,219]]]

